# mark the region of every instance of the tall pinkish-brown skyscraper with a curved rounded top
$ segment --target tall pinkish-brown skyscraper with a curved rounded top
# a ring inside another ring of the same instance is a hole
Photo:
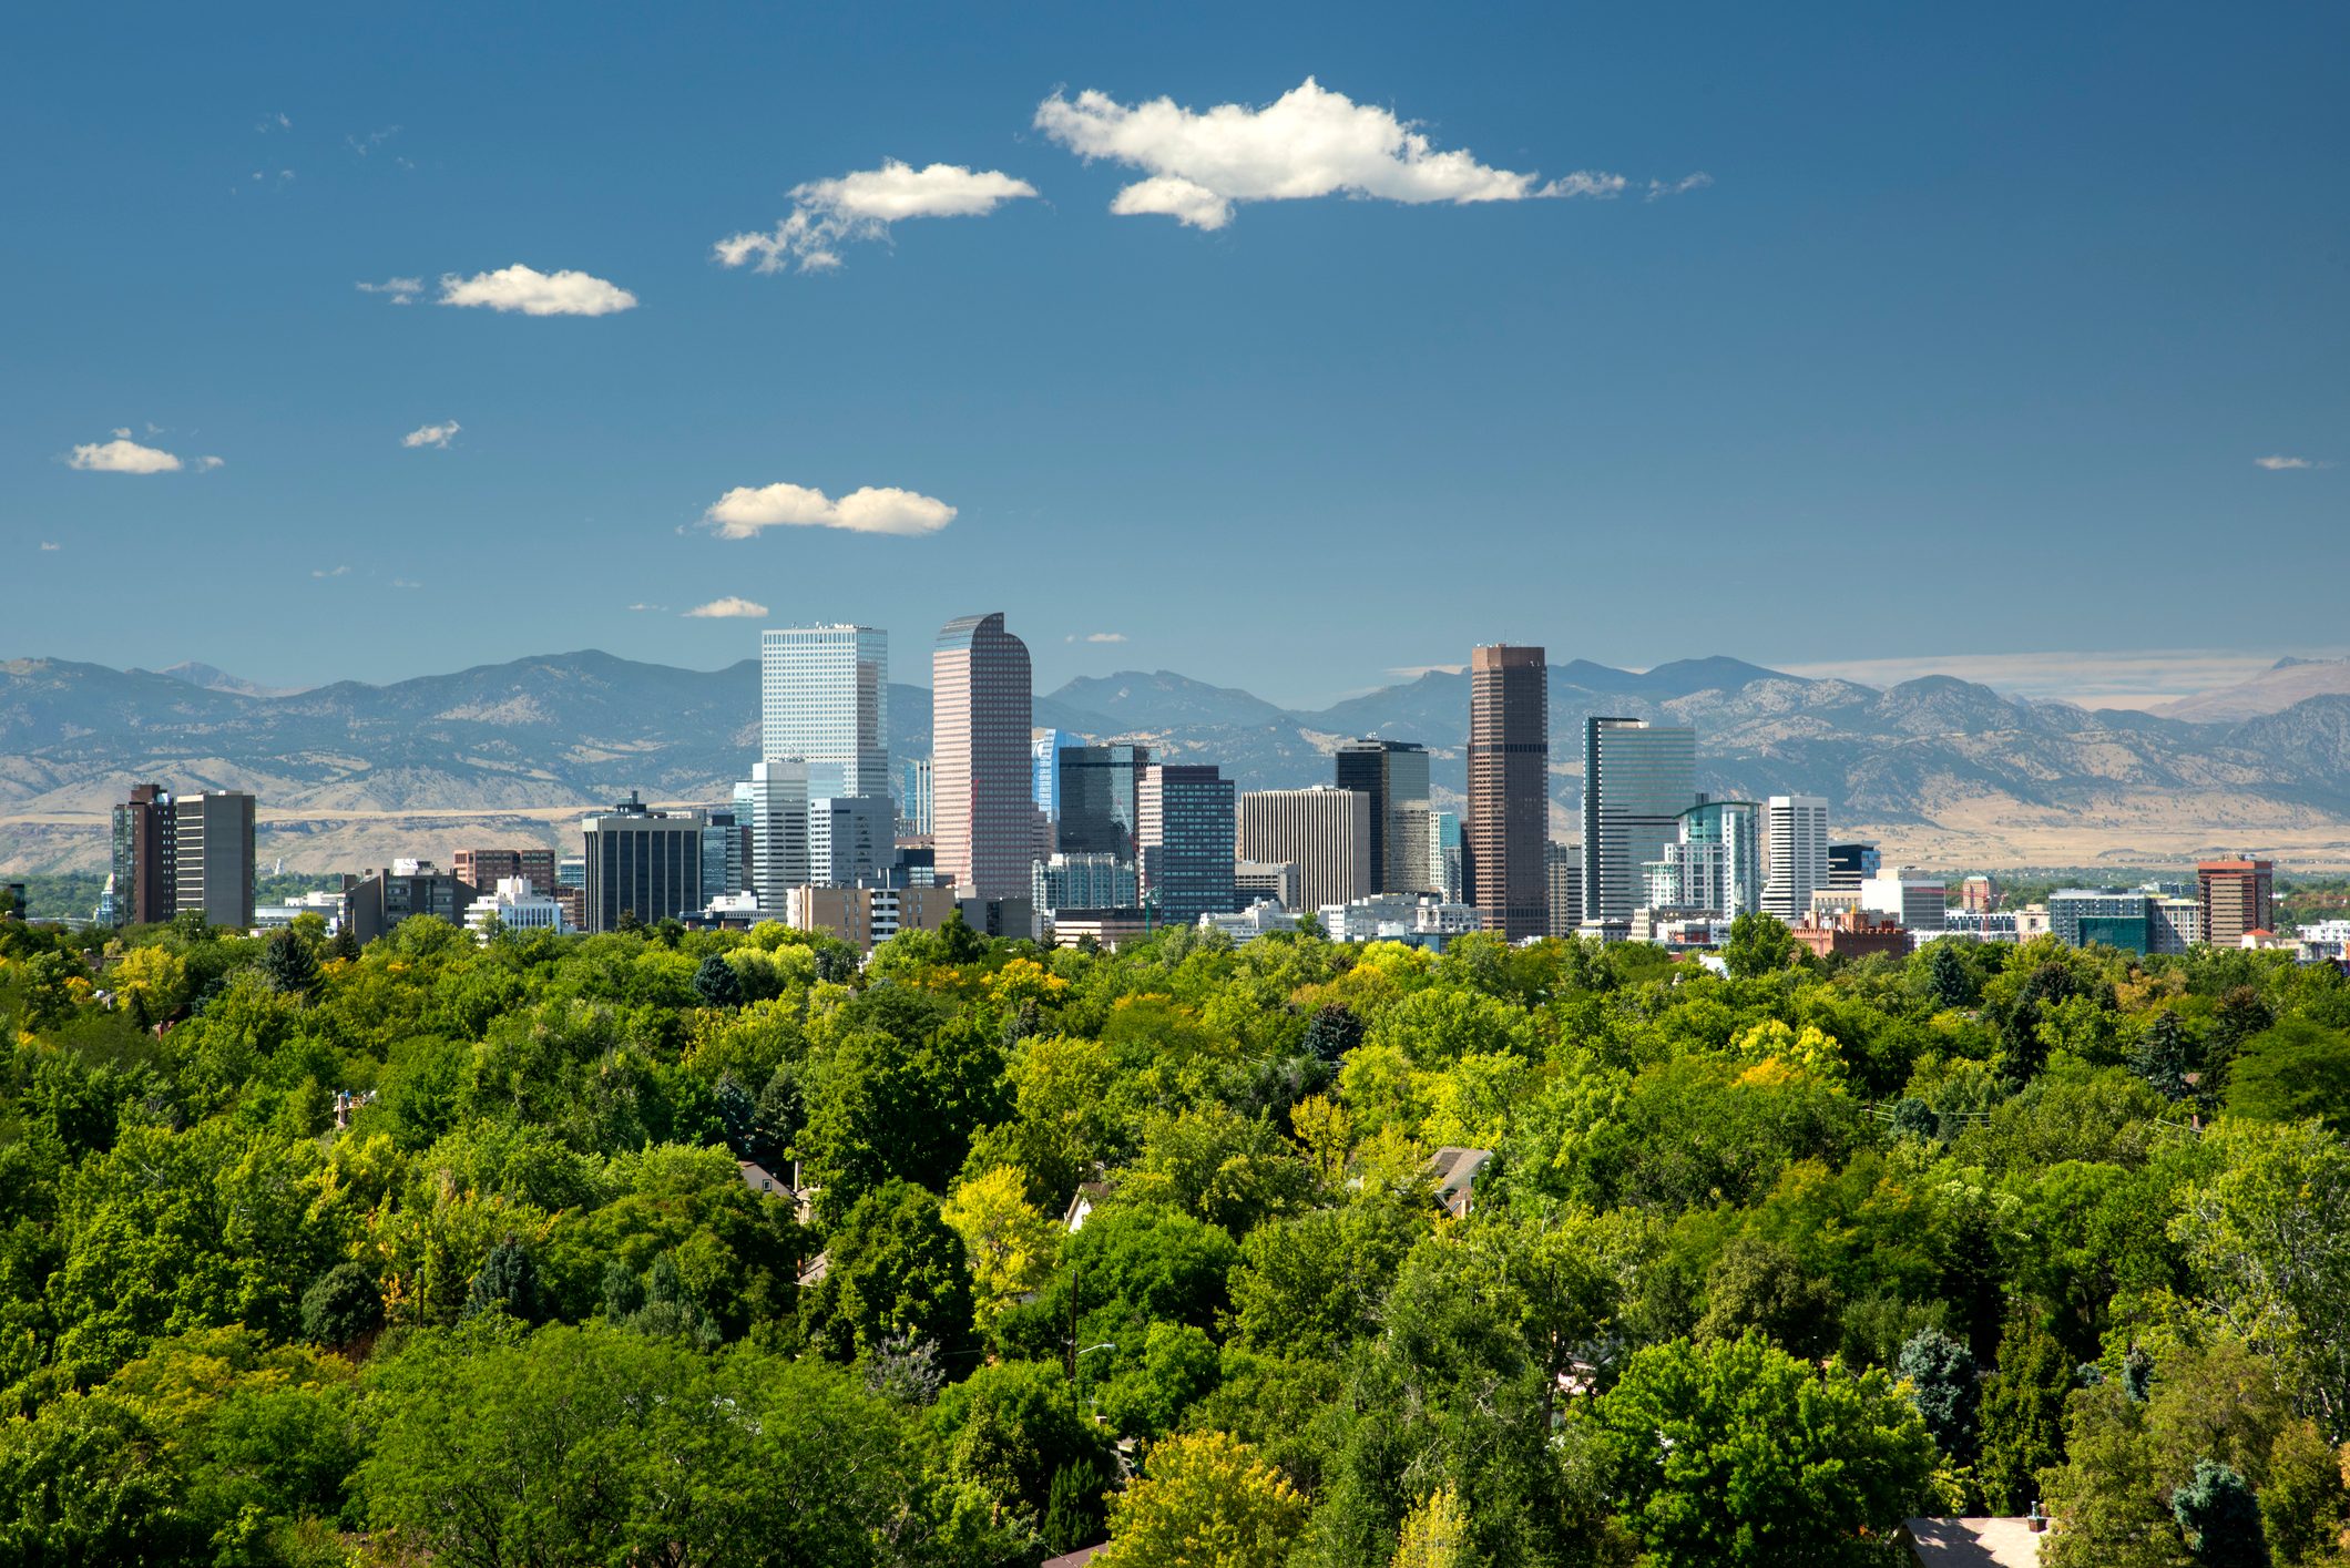
[[[959,898],[1027,898],[1036,851],[1027,644],[964,616],[931,649],[938,875]]]

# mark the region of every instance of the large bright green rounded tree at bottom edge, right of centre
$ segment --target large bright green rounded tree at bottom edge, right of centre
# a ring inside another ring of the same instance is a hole
[[[1878,1563],[1934,1472],[1885,1373],[1821,1373],[1758,1335],[1636,1352],[1591,1422],[1657,1568]]]

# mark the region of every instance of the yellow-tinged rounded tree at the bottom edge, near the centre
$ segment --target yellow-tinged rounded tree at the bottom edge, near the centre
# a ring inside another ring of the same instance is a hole
[[[1149,1450],[1147,1472],[1112,1505],[1095,1568],[1276,1568],[1307,1500],[1229,1432],[1187,1432]]]

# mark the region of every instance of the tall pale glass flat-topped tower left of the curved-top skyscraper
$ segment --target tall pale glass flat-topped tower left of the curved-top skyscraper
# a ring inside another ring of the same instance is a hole
[[[806,762],[811,797],[888,795],[888,632],[761,632],[759,757]]]

